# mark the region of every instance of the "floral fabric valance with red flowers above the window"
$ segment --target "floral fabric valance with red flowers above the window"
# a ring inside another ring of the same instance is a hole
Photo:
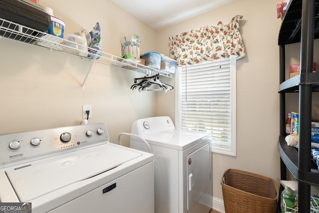
[[[191,65],[203,60],[227,59],[230,55],[236,55],[237,59],[246,56],[239,33],[242,18],[236,15],[226,25],[219,21],[217,26],[204,26],[169,37],[171,57],[179,65]]]

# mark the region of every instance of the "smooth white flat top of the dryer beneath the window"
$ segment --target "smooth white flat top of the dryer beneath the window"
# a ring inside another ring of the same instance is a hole
[[[209,133],[173,129],[148,135],[145,140],[149,144],[183,151],[208,138]]]

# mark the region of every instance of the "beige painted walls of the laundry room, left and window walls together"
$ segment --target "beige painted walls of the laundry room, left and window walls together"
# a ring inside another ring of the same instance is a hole
[[[121,55],[120,37],[140,35],[141,53],[169,55],[168,37],[204,25],[227,24],[243,15],[240,32],[247,56],[237,61],[237,157],[213,154],[213,196],[222,199],[220,180],[228,168],[280,179],[279,153],[279,19],[278,0],[236,0],[158,32],[109,1],[41,0],[66,22],[65,34],[91,30],[100,22],[103,51]],[[174,120],[175,94],[137,93],[130,90],[141,74],[94,64],[73,56],[0,38],[0,134],[80,124],[82,105],[92,105],[90,123],[107,125],[111,141],[120,132],[130,132],[134,120],[168,115]],[[161,78],[175,85],[175,79]],[[128,140],[124,139],[128,146]]]

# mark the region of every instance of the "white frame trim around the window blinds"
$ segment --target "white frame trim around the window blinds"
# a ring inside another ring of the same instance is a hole
[[[220,153],[229,156],[236,157],[236,102],[237,102],[237,92],[236,92],[236,56],[230,56],[230,146],[229,148],[225,148],[215,141],[212,142],[211,150],[214,153]],[[211,61],[208,63],[216,63],[218,61]],[[180,71],[181,67],[179,67],[175,72],[175,126],[180,129],[180,118],[179,118],[179,107],[180,107]]]

